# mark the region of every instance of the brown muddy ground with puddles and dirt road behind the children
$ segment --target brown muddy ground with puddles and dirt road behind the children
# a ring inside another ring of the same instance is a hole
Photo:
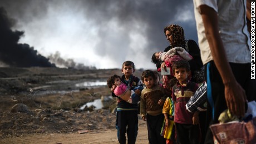
[[[111,112],[115,99],[98,110],[81,110],[87,102],[111,96],[107,86],[81,83],[106,81],[114,74],[122,75],[120,69],[0,68],[0,143],[118,143]],[[147,143],[141,119],[137,143]]]

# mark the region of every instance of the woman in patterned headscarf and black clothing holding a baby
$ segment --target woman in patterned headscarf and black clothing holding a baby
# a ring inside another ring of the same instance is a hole
[[[177,24],[171,24],[169,26],[166,26],[164,28],[164,33],[167,41],[170,42],[170,46],[166,47],[164,52],[167,52],[170,49],[175,47],[184,48],[193,57],[193,59],[189,61],[190,70],[191,70],[190,81],[193,81],[195,83],[204,82],[204,67],[203,67],[203,62],[201,61],[200,49],[198,47],[198,44],[192,39],[185,40],[183,27]],[[164,61],[158,61],[156,63],[156,67],[157,69],[166,68],[166,63]],[[176,83],[176,79],[174,78],[171,79],[169,81],[170,87],[175,85],[175,83]],[[205,138],[205,131],[206,131],[205,117],[206,117],[205,112],[200,112],[199,121],[200,121],[200,129],[201,129],[201,143],[204,142],[204,138]]]

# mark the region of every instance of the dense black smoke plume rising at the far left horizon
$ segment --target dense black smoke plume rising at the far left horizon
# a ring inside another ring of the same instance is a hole
[[[14,19],[9,18],[6,10],[0,7],[0,61],[11,67],[55,67],[33,47],[18,43],[24,32],[12,31],[14,23]]]

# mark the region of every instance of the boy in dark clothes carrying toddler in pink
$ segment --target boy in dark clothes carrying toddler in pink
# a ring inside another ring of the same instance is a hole
[[[121,81],[130,89],[134,90],[135,87],[141,86],[142,82],[138,77],[132,75],[135,72],[134,62],[125,61],[122,64],[122,75]],[[111,88],[112,96],[118,97],[115,95],[114,90],[116,86],[113,85]],[[140,95],[140,90],[135,90],[137,95]],[[117,101],[117,111],[116,111],[116,129],[117,129],[117,138],[119,143],[126,143],[125,133],[127,133],[128,143],[135,143],[138,132],[138,105],[137,103],[132,104],[128,103],[122,98],[118,97]]]

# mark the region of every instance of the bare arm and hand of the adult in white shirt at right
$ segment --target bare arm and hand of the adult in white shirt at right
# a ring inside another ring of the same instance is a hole
[[[213,8],[206,5],[201,5],[199,9],[214,63],[223,80],[227,106],[234,115],[244,116],[246,101],[245,91],[237,80],[235,80],[232,69],[229,66],[223,42],[219,34],[218,14]]]

